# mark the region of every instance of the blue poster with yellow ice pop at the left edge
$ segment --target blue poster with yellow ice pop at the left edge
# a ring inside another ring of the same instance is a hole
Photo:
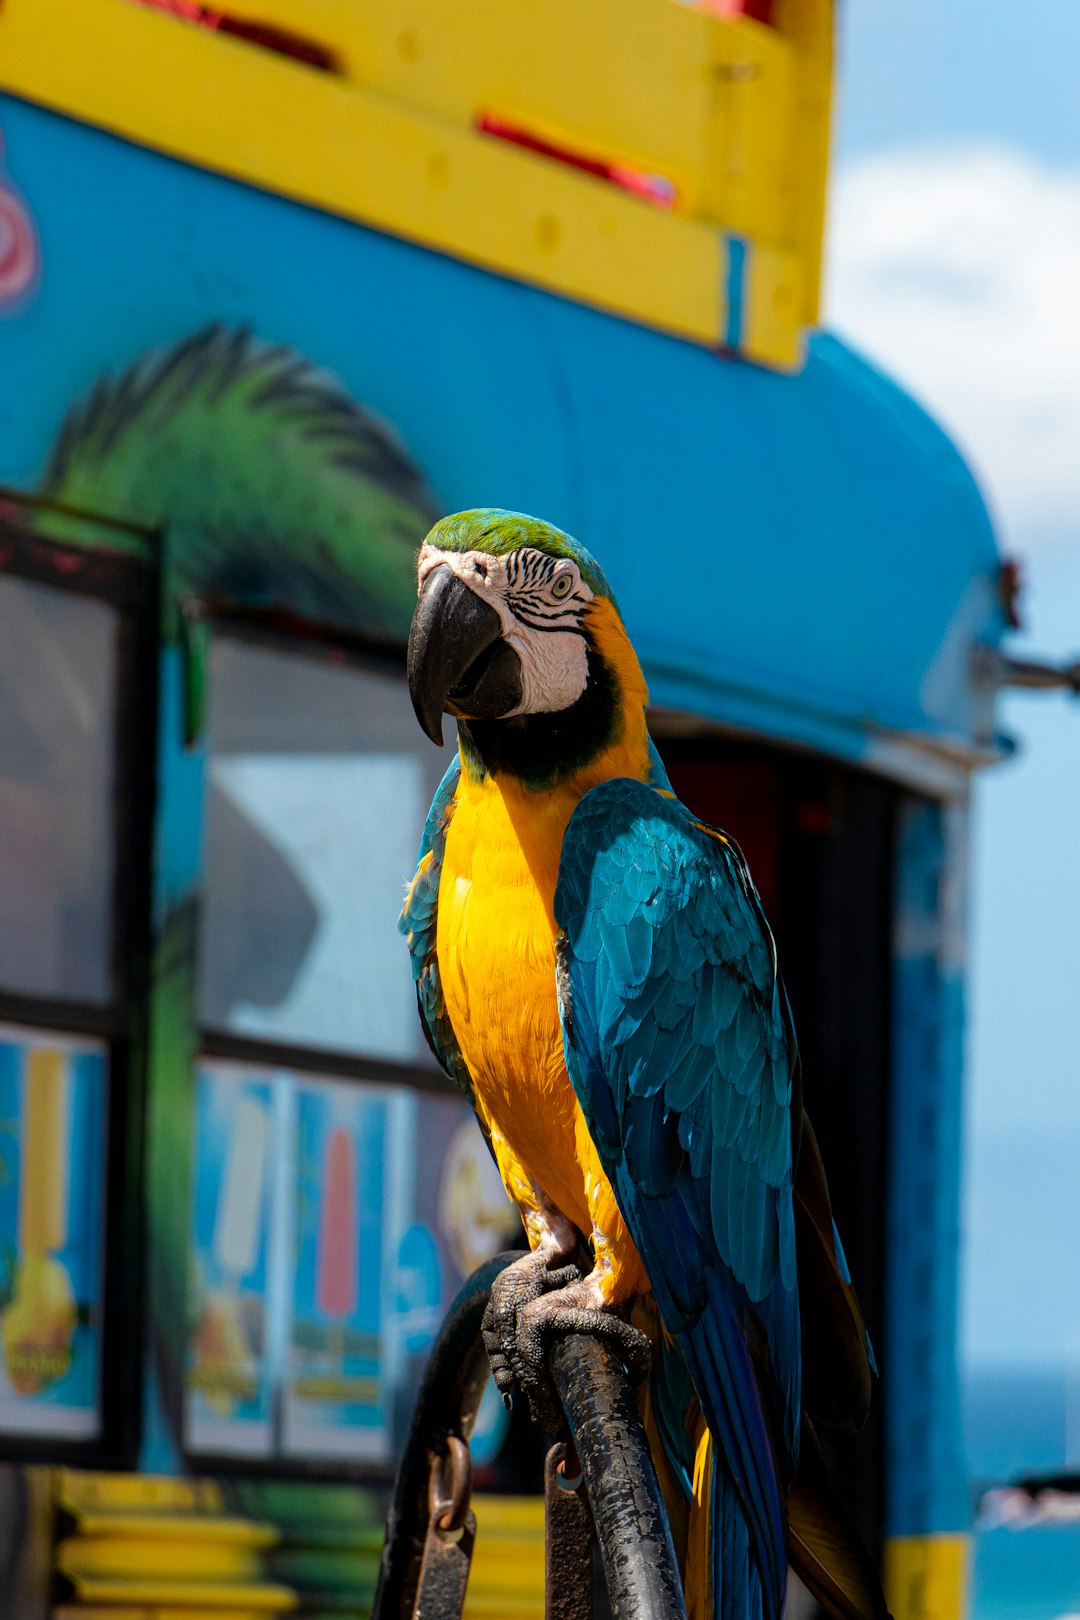
[[[105,1051],[0,1029],[0,1430],[100,1432]]]

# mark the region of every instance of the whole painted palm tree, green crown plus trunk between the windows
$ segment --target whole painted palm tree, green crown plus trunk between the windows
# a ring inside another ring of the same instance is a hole
[[[178,1442],[189,1311],[206,637],[196,606],[282,611],[402,642],[437,509],[392,431],[290,348],[212,326],[102,377],[55,439],[40,492],[139,525],[162,548],[159,844],[147,1103],[152,1359]],[[74,518],[49,531],[84,536]],[[138,536],[117,544],[142,549]],[[196,632],[193,633],[193,622]],[[152,1426],[154,1430],[154,1426]],[[151,1430],[151,1432],[152,1432]],[[168,1463],[167,1452],[154,1453]]]

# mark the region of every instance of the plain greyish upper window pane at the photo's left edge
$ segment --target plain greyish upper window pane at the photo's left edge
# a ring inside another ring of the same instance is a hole
[[[0,577],[0,991],[112,995],[117,629]]]

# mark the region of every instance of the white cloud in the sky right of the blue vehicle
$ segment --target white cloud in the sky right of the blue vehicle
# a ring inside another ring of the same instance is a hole
[[[1075,536],[1080,170],[986,146],[866,157],[829,235],[829,324],[957,437],[1006,549]]]

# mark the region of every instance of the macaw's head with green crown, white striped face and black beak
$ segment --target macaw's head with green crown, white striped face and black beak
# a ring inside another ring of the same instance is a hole
[[[631,724],[648,690],[610,586],[570,535],[521,512],[444,517],[419,554],[408,642],[416,716],[491,771],[536,786],[588,765]]]

